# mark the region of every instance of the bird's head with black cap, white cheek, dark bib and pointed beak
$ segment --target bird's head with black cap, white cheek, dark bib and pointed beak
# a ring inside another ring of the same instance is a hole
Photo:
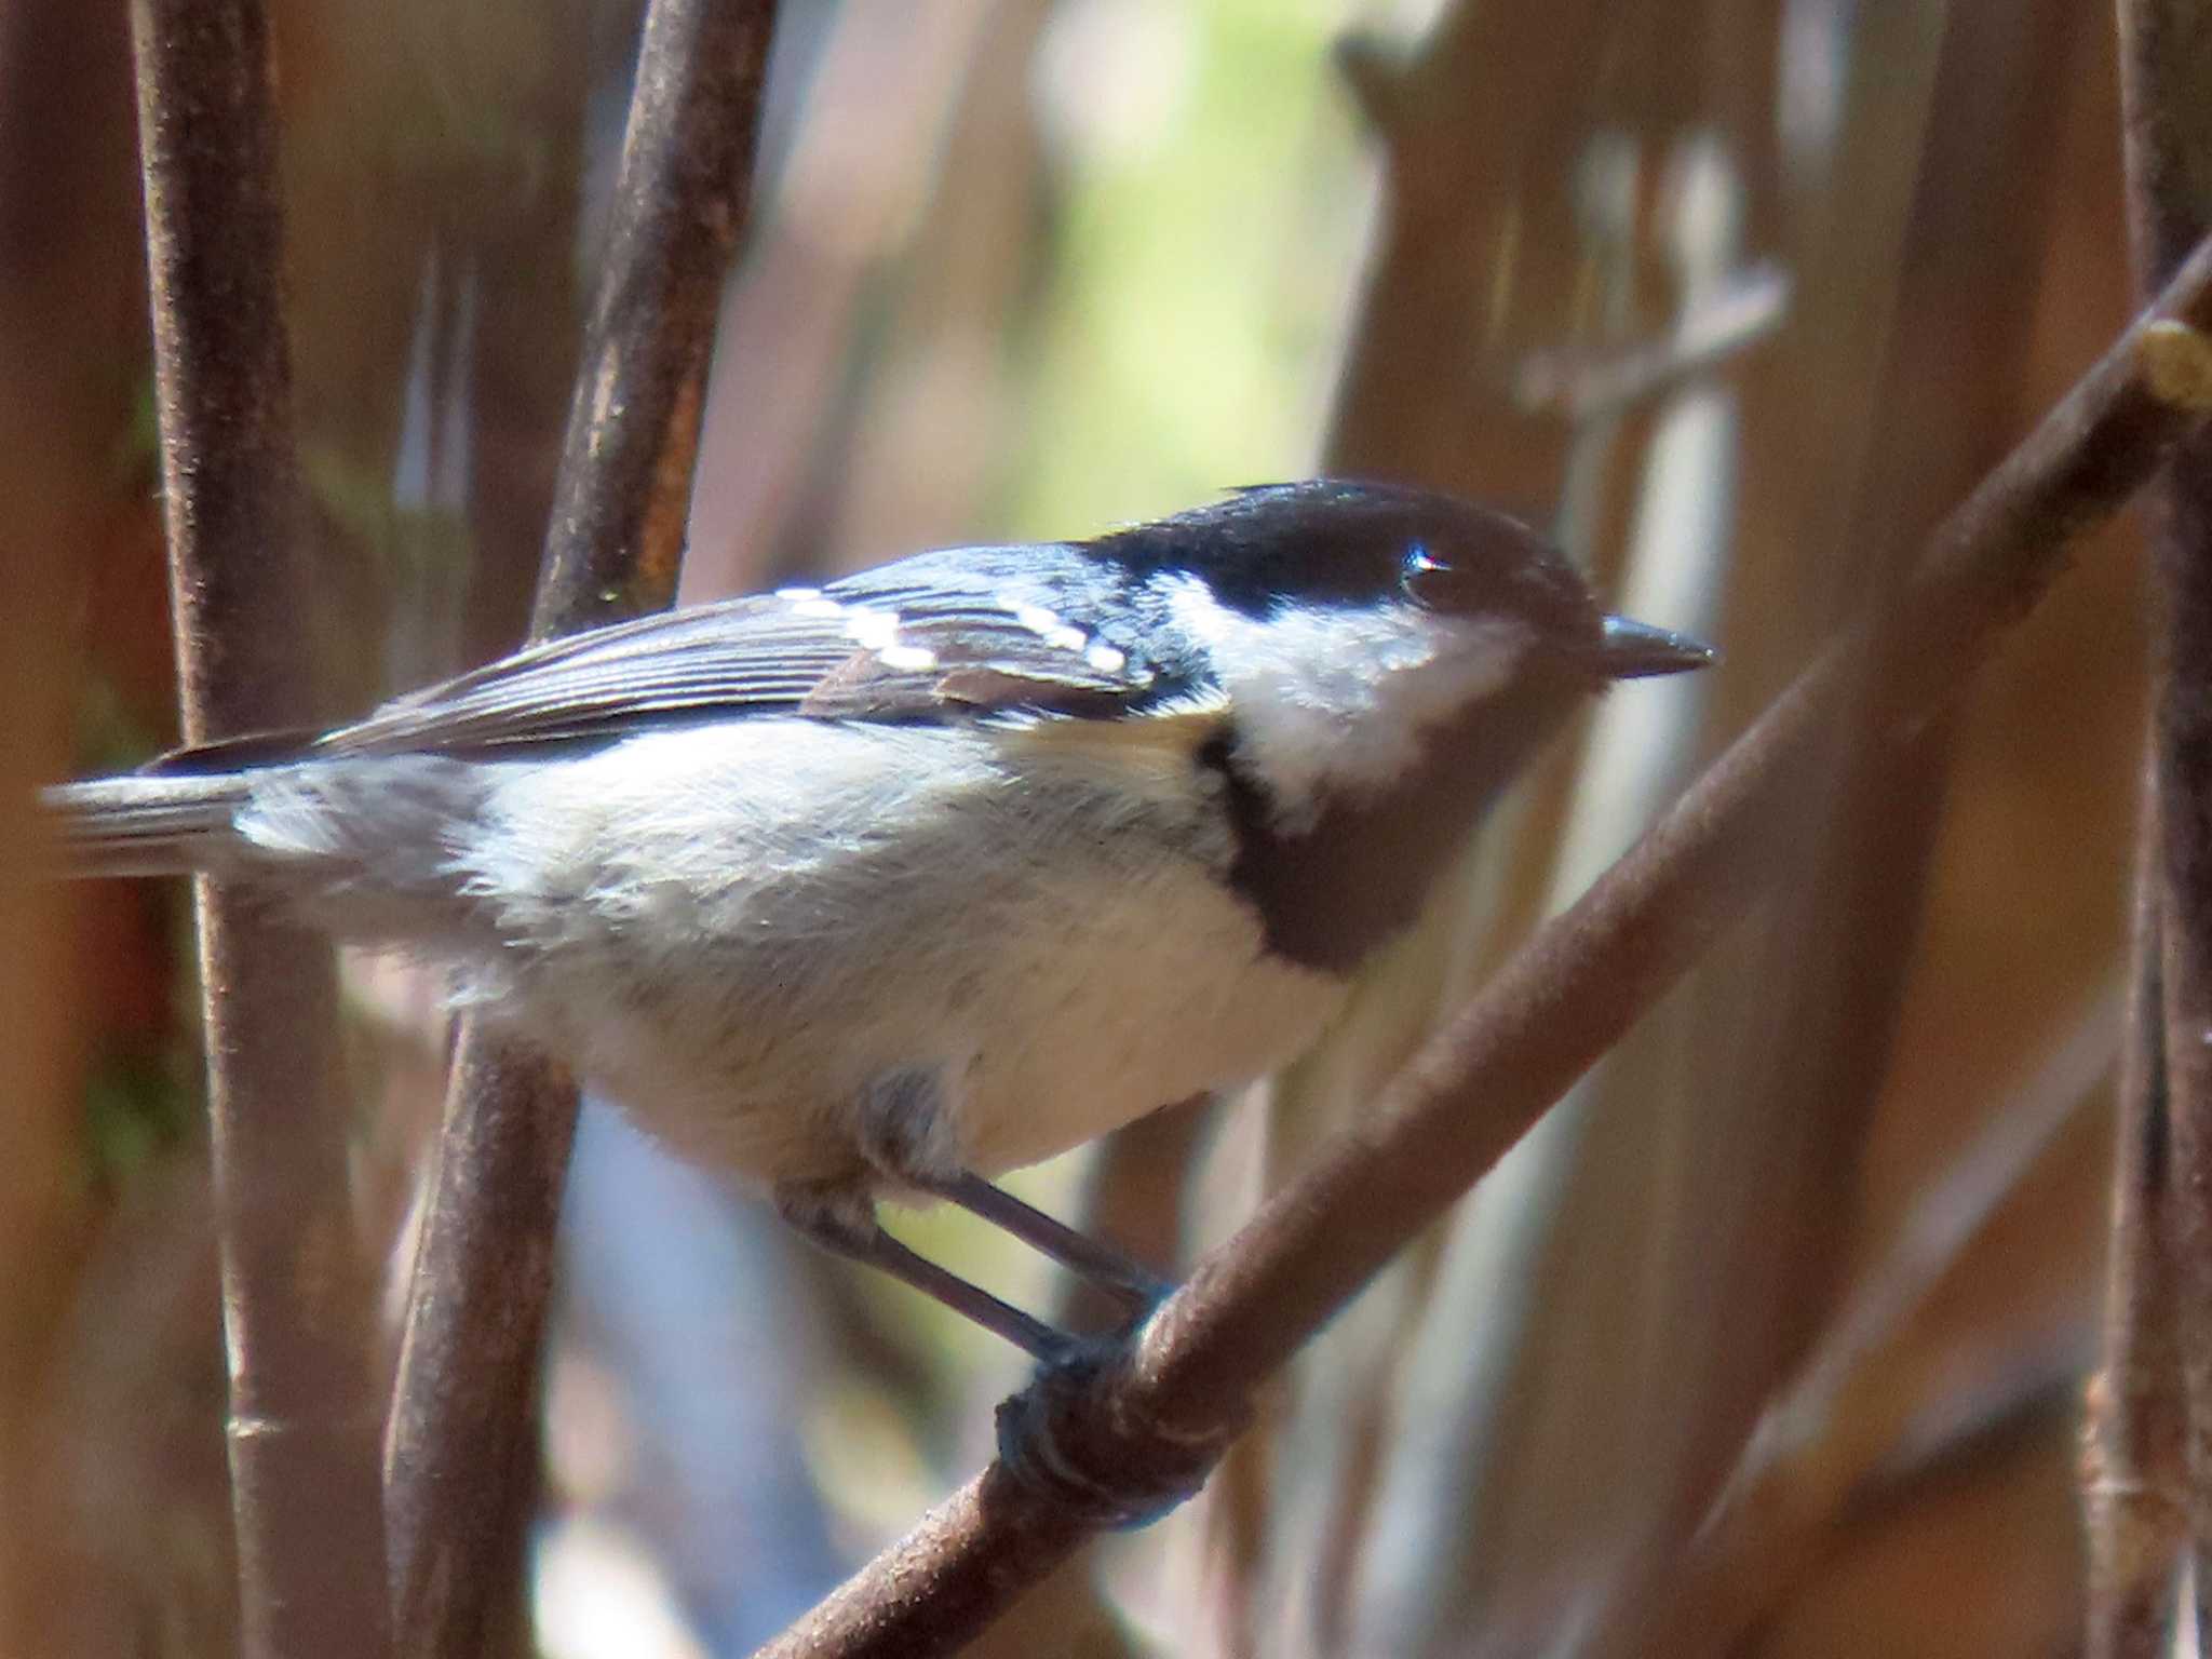
[[[1710,661],[1608,617],[1526,524],[1398,484],[1245,489],[1093,544],[1225,699],[1232,880],[1270,945],[1354,967],[1544,737],[1613,679]]]

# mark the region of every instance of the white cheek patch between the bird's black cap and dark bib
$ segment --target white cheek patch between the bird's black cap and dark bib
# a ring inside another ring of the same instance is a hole
[[[1214,655],[1241,748],[1285,830],[1329,794],[1374,794],[1418,759],[1422,737],[1500,690],[1531,630],[1513,617],[1449,617],[1413,604],[1294,606],[1265,622],[1201,582],[1175,591],[1177,619]]]

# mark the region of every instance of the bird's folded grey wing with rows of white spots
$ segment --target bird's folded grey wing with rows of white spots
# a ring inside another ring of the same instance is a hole
[[[989,553],[1006,557],[978,568],[975,549],[918,555],[827,588],[555,639],[385,703],[312,752],[484,752],[768,712],[867,721],[1108,714],[1157,695],[1152,664],[1029,597],[1062,591],[1035,580],[1037,549]]]

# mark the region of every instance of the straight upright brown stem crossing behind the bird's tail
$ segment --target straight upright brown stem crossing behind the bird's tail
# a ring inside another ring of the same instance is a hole
[[[268,18],[133,0],[184,734],[312,717]],[[330,947],[199,883],[248,1655],[385,1650],[369,1272]]]

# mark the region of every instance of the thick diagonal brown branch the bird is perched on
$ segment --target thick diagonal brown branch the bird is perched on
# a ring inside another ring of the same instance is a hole
[[[1190,1473],[1252,1391],[1652,1006],[1761,891],[1774,825],[1827,754],[1871,657],[1871,719],[1940,710],[2212,409],[2212,243],[1931,538],[1891,606],[1838,639],[1644,841],[1551,922],[1376,1102],[1369,1119],[1199,1263],[1117,1363],[1031,1402],[1099,1484]],[[772,1655],[947,1652],[1086,1535],[993,1464]]]

